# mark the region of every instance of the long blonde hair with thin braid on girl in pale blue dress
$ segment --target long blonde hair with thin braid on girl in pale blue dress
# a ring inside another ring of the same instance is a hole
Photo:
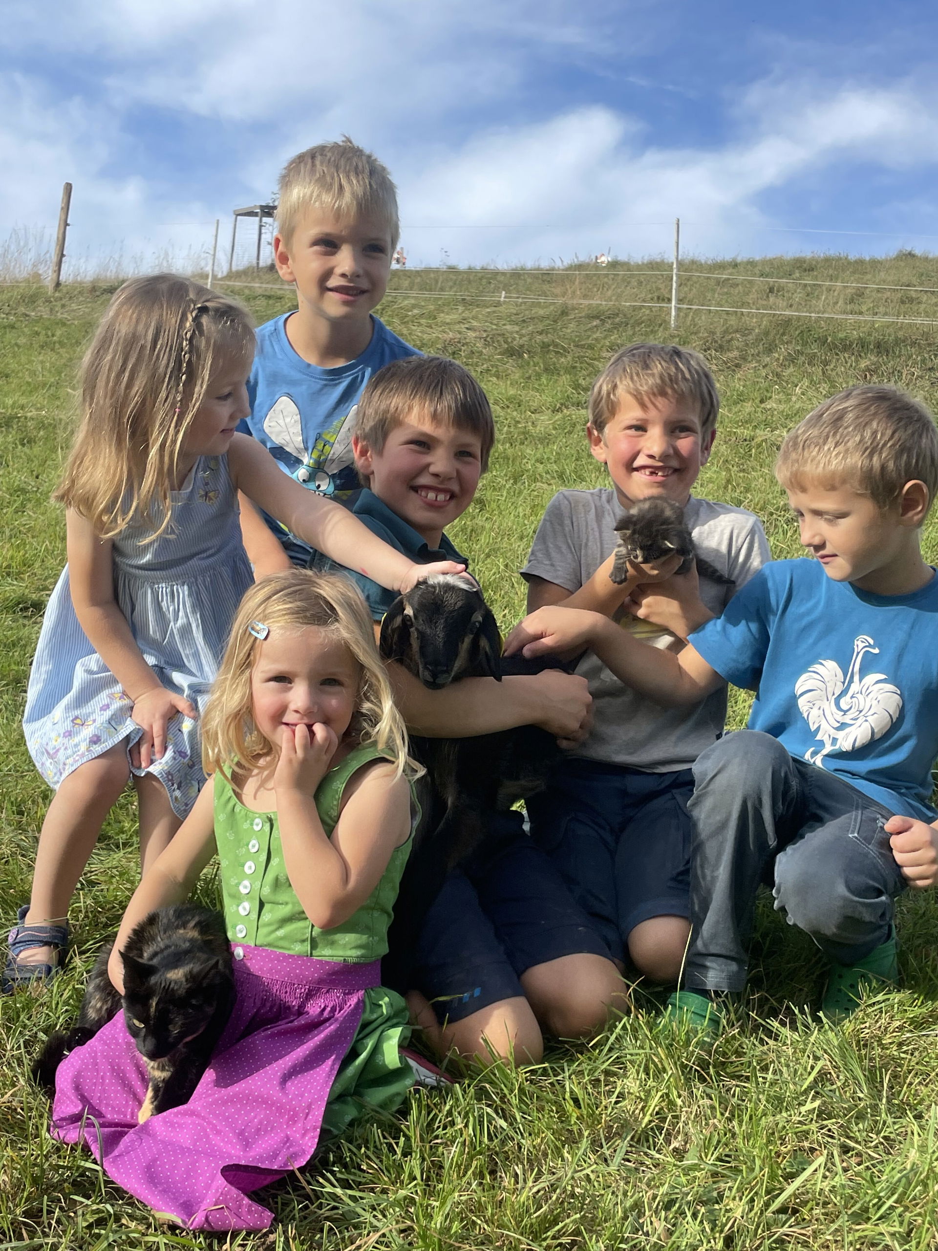
[[[185,437],[220,364],[254,354],[240,304],[174,274],[115,293],[81,363],[81,424],[54,499],[101,538],[170,523]]]

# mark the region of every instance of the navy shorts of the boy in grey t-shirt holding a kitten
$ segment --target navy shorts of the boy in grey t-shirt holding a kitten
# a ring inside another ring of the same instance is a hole
[[[532,836],[617,960],[650,917],[690,916],[690,769],[564,761],[528,801]]]

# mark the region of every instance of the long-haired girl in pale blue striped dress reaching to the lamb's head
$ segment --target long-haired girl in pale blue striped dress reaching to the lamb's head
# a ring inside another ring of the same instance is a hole
[[[55,973],[69,901],[128,779],[144,869],[205,781],[198,716],[251,582],[239,489],[389,589],[459,568],[411,564],[235,433],[249,413],[253,354],[245,310],[160,274],[121,286],[85,357],[81,424],[55,495],[69,563],[45,613],[24,718],[56,793],[30,903],[10,931],[4,990]]]

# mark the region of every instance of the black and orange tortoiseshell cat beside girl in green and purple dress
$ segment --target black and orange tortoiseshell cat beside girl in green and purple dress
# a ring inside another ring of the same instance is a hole
[[[121,952],[124,997],[108,976],[108,943],[91,970],[79,1018],[54,1033],[33,1076],[55,1088],[55,1071],[123,1007],[150,1088],[138,1120],[186,1103],[205,1072],[234,1006],[231,948],[224,918],[193,903],[159,908],[135,926]]]

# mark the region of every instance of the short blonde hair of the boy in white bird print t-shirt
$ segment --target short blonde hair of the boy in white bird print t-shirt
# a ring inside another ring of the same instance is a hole
[[[907,482],[938,490],[938,428],[919,400],[895,387],[848,387],[809,413],[782,443],[775,477],[849,485],[888,508]]]

